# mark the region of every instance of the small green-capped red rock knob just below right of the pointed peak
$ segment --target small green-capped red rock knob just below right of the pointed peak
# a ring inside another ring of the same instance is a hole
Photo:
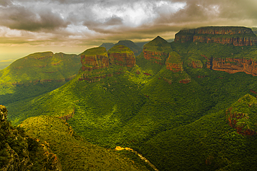
[[[180,55],[176,52],[170,52],[166,61],[166,67],[174,72],[183,71],[183,62],[181,61]]]

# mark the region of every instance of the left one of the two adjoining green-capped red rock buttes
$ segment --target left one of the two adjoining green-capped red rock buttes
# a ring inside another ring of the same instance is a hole
[[[81,64],[83,71],[92,71],[92,69],[108,68],[109,58],[106,48],[90,48],[81,54]]]

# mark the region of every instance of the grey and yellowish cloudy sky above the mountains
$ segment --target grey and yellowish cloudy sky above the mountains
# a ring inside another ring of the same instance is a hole
[[[120,39],[172,39],[182,28],[256,27],[256,9],[256,0],[0,0],[0,61],[37,51],[78,54]]]

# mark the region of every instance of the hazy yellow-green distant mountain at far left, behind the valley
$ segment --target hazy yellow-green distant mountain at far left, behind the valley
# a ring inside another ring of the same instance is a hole
[[[81,68],[80,56],[65,53],[33,53],[0,71],[0,102],[31,98],[72,80]]]

